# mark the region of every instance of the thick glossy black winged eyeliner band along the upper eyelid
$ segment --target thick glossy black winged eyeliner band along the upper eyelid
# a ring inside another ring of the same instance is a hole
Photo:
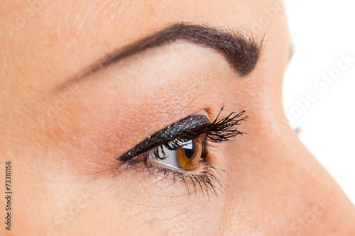
[[[173,125],[163,128],[163,130],[158,131],[154,135],[147,137],[145,140],[133,147],[133,149],[129,150],[129,152],[122,154],[117,159],[123,162],[129,161],[138,154],[148,152],[153,147],[158,147],[166,142],[171,142],[180,136],[183,137],[187,132],[198,133],[197,130],[201,130],[209,124],[211,124],[211,122],[207,116],[188,116]]]

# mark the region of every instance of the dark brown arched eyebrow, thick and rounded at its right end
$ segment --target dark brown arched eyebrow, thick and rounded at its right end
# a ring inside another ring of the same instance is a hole
[[[126,47],[109,52],[102,60],[80,72],[75,80],[94,74],[104,67],[153,47],[186,40],[221,52],[242,77],[253,71],[261,52],[262,42],[238,30],[222,30],[209,26],[175,24]]]

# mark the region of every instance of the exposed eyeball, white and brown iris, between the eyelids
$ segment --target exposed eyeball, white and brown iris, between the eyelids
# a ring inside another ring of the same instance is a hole
[[[148,154],[148,159],[156,164],[173,167],[176,169],[193,170],[196,169],[202,157],[201,137],[197,137],[187,142],[176,141],[179,147],[171,150],[168,147],[160,146],[157,153]]]

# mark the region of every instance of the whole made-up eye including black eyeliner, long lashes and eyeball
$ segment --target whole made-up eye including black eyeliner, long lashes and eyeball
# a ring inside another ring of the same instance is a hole
[[[244,116],[246,111],[232,112],[229,116],[221,118],[223,109],[224,107],[212,123],[207,116],[200,114],[183,118],[147,137],[116,159],[124,163],[133,160],[135,163],[143,162],[150,173],[162,172],[165,177],[173,177],[173,181],[181,180],[189,193],[190,186],[195,192],[200,186],[202,192],[207,195],[212,191],[218,196],[217,186],[222,185],[215,175],[218,170],[209,162],[209,142],[226,142],[236,135],[243,135],[244,133],[237,129],[237,125],[248,118]],[[197,150],[201,148],[202,151],[192,152],[195,149],[192,149],[191,144],[195,144],[194,147],[198,147]],[[173,155],[178,157],[178,162],[173,160],[172,163],[180,163],[179,167],[166,165],[169,163],[166,159],[172,156],[170,151],[178,153]],[[170,154],[166,155],[167,153]]]

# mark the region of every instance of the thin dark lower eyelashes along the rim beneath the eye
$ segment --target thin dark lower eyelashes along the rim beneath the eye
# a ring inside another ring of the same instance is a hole
[[[181,171],[178,169],[170,169],[168,167],[158,166],[152,164],[151,162],[144,162],[149,174],[160,174],[166,178],[172,178],[173,181],[182,181],[187,189],[188,195],[195,192],[197,194],[198,188],[201,189],[203,196],[204,193],[207,194],[209,198],[209,192],[211,192],[215,197],[218,197],[218,193],[222,192],[223,186],[217,178],[216,174],[219,172],[224,172],[224,170],[217,169],[206,161],[200,162],[204,166],[198,174],[188,174],[187,171]],[[192,191],[193,190],[193,191]]]

